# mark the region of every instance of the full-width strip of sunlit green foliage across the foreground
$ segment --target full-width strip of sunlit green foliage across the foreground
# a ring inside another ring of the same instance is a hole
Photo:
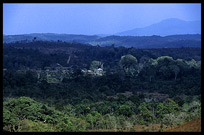
[[[148,125],[150,123],[162,122],[172,126],[201,116],[201,104],[198,102],[199,100],[184,103],[182,109],[179,109],[178,104],[171,99],[166,100],[165,103],[146,103],[139,97],[133,97],[133,101],[139,100],[141,102],[139,106],[136,106],[131,101],[126,101],[123,104],[117,104],[117,100],[114,102],[102,101],[104,104],[99,110],[103,113],[93,111],[92,109],[95,106],[92,102],[88,102],[88,100],[83,101],[86,103],[85,105],[78,104],[76,111],[74,106],[69,105],[64,107],[63,112],[58,112],[46,104],[39,103],[27,97],[14,98],[4,102],[4,130],[15,132],[75,132],[96,129],[117,130],[120,128],[130,130],[133,128],[133,125],[138,124]],[[22,114],[26,115],[24,119],[21,118],[22,116],[19,113],[15,112],[18,110],[17,108],[21,107],[20,104],[27,110],[27,113],[24,112],[24,109],[21,110]],[[34,107],[34,109],[31,111],[28,109],[28,106],[26,107],[26,104],[30,104],[29,106]],[[33,104],[37,104],[40,109],[35,108]],[[99,104],[96,106],[99,106]],[[81,107],[84,114],[80,114],[79,108]],[[153,108],[155,108],[155,112]],[[138,113],[136,113],[137,110]],[[29,115],[31,112],[32,116]],[[36,118],[36,113],[42,119]]]

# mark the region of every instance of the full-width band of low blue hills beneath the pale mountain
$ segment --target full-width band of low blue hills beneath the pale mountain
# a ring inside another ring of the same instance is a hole
[[[66,41],[90,44],[93,46],[124,46],[135,48],[179,48],[179,47],[201,47],[200,34],[185,34],[171,36],[106,36],[97,35],[73,35],[73,34],[24,34],[24,35],[3,35],[3,42],[16,41],[30,42],[33,40],[42,41]]]

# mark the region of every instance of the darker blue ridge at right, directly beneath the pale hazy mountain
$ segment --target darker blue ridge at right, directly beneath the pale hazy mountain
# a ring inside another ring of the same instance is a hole
[[[135,48],[178,48],[201,47],[200,34],[171,36],[108,36],[88,42],[91,45],[135,47]]]

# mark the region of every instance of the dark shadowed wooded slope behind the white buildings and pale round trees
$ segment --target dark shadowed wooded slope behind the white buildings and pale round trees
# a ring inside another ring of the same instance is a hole
[[[125,47],[99,47],[67,42],[16,42],[4,44],[3,67],[6,69],[30,69],[50,67],[60,63],[63,66],[89,68],[93,60],[104,63],[104,68],[117,68],[121,56],[131,54],[140,60],[142,57],[156,59],[160,56],[170,56],[173,59],[201,59],[200,48],[160,48],[136,49]],[[70,63],[67,59],[71,56]]]

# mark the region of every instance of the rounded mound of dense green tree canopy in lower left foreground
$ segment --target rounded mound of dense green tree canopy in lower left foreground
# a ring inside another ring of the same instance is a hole
[[[39,120],[54,124],[57,122],[56,118],[60,117],[60,112],[28,97],[14,98],[5,103],[4,108],[13,112],[19,120]]]

